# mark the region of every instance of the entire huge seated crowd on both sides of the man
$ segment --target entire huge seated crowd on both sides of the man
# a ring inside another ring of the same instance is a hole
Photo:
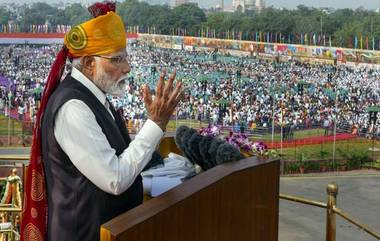
[[[59,46],[0,46],[1,106],[22,106],[36,112],[48,71]],[[196,119],[234,126],[238,130],[283,126],[289,137],[296,128],[333,125],[350,131],[380,134],[366,109],[380,105],[380,72],[365,67],[271,61],[215,52],[128,47],[132,72],[124,98],[112,98],[138,129],[147,118],[140,88],[151,87],[164,69],[177,70],[186,85],[186,99],[177,108],[179,119]],[[67,68],[69,69],[69,68]],[[21,111],[22,112],[22,111]],[[334,122],[335,120],[336,123]],[[380,120],[380,118],[379,118]],[[379,121],[378,120],[378,121]],[[377,123],[380,124],[380,123]]]

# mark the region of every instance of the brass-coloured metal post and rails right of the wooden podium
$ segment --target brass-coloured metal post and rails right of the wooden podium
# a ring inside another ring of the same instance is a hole
[[[326,209],[326,241],[335,241],[336,240],[336,215],[338,214],[343,219],[348,222],[356,225],[361,230],[367,232],[372,237],[380,240],[380,233],[372,230],[367,225],[356,221],[354,218],[349,216],[347,213],[343,212],[336,206],[336,197],[338,195],[338,186],[335,183],[330,183],[327,185],[327,203],[322,203],[306,198],[295,197],[290,195],[285,195],[280,193],[280,199],[288,200],[292,202],[303,203],[306,205],[311,205],[319,208]]]

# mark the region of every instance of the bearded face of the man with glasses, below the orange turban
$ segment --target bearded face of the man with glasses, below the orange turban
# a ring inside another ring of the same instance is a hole
[[[105,93],[122,96],[131,71],[126,51],[95,57],[94,83]]]

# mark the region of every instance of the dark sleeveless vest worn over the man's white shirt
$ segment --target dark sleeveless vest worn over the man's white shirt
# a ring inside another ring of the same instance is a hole
[[[95,95],[71,76],[65,78],[49,99],[42,122],[48,198],[47,240],[97,241],[100,225],[142,203],[142,178],[139,175],[127,191],[115,196],[99,189],[73,165],[54,137],[55,116],[62,105],[72,99],[83,101],[92,110],[116,155],[128,147],[131,139],[112,105],[110,109],[115,120]]]

